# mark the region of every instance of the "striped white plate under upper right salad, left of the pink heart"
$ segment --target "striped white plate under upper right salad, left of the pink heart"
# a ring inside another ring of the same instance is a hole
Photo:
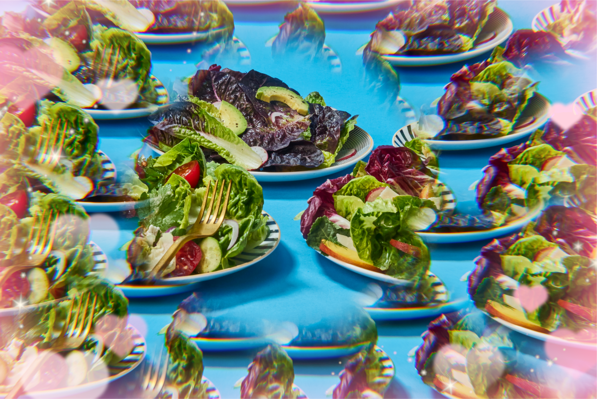
[[[487,148],[493,146],[503,145],[510,143],[518,139],[522,139],[525,136],[529,136],[531,133],[536,131],[538,128],[543,126],[549,118],[549,107],[550,103],[544,96],[539,93],[535,93],[529,100],[527,106],[522,110],[518,121],[528,121],[533,118],[531,124],[527,124],[522,128],[514,129],[512,133],[507,136],[496,137],[494,139],[481,139],[481,140],[425,140],[429,144],[430,148],[444,151],[457,151],[457,150],[469,150],[478,148]],[[520,122],[518,122],[520,123]],[[416,137],[415,131],[418,128],[418,122],[402,127],[400,130],[394,133],[392,137],[392,144],[395,147],[404,146],[404,143],[414,139]]]

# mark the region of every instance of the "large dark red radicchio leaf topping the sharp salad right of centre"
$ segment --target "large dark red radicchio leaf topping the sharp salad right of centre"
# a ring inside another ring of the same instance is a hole
[[[380,182],[392,185],[399,194],[415,197],[435,180],[421,158],[406,147],[378,146],[371,152],[365,171]]]

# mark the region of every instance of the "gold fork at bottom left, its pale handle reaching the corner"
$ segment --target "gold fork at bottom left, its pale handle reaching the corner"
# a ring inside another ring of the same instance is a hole
[[[86,298],[86,299],[85,299]],[[85,306],[83,305],[85,299]],[[13,389],[8,392],[8,395],[4,399],[15,399],[23,392],[23,388],[26,382],[30,381],[38,372],[39,368],[44,364],[51,354],[58,352],[73,351],[78,349],[91,331],[93,324],[93,317],[96,312],[97,294],[93,295],[93,305],[89,312],[89,318],[87,318],[87,309],[89,308],[89,301],[91,299],[91,293],[83,294],[79,298],[79,305],[73,314],[73,308],[75,306],[75,298],[70,303],[70,309],[66,322],[60,332],[60,335],[54,340],[50,349],[46,349],[41,352],[35,359],[35,363],[30,366],[26,372],[20,377],[17,383],[13,386]]]

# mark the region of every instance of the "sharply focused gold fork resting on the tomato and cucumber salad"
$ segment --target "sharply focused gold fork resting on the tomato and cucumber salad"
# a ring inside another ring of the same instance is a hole
[[[205,219],[203,218],[203,214],[205,211],[205,204],[207,204],[207,197],[210,194],[210,186],[211,180],[207,183],[207,191],[205,191],[205,197],[203,197],[203,203],[201,204],[201,211],[199,211],[199,216],[197,217],[197,221],[191,227],[189,234],[180,236],[174,244],[162,256],[162,259],[158,261],[152,271],[149,273],[149,279],[153,280],[153,278],[160,278],[162,271],[166,268],[166,266],[170,263],[174,256],[178,253],[180,248],[183,247],[184,244],[188,243],[190,240],[195,240],[196,238],[204,238],[210,237],[211,235],[216,234],[218,229],[220,228],[222,222],[224,221],[224,215],[226,214],[226,209],[228,208],[228,199],[230,198],[230,187],[232,186],[232,181],[228,183],[228,189],[226,192],[226,199],[224,199],[224,203],[221,203],[222,193],[224,191],[224,186],[226,185],[226,181],[224,180],[221,182],[220,186],[220,194],[218,196],[216,202],[216,208],[213,214],[213,220],[210,220],[211,211],[213,210],[214,205],[214,197],[216,197],[216,193],[218,191],[219,180],[216,180],[216,184],[214,185],[214,194],[211,197],[210,206],[207,208],[207,214],[205,215]],[[218,217],[218,211],[220,210],[220,205],[222,205],[220,216]]]

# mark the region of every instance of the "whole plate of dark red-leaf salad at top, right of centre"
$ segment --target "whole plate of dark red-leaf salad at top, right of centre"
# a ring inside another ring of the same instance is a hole
[[[510,17],[494,0],[467,5],[473,9],[467,10],[464,22],[454,20],[451,8],[465,6],[448,1],[416,0],[411,7],[393,11],[378,22],[363,51],[378,53],[396,66],[442,65],[487,53],[513,30]]]

